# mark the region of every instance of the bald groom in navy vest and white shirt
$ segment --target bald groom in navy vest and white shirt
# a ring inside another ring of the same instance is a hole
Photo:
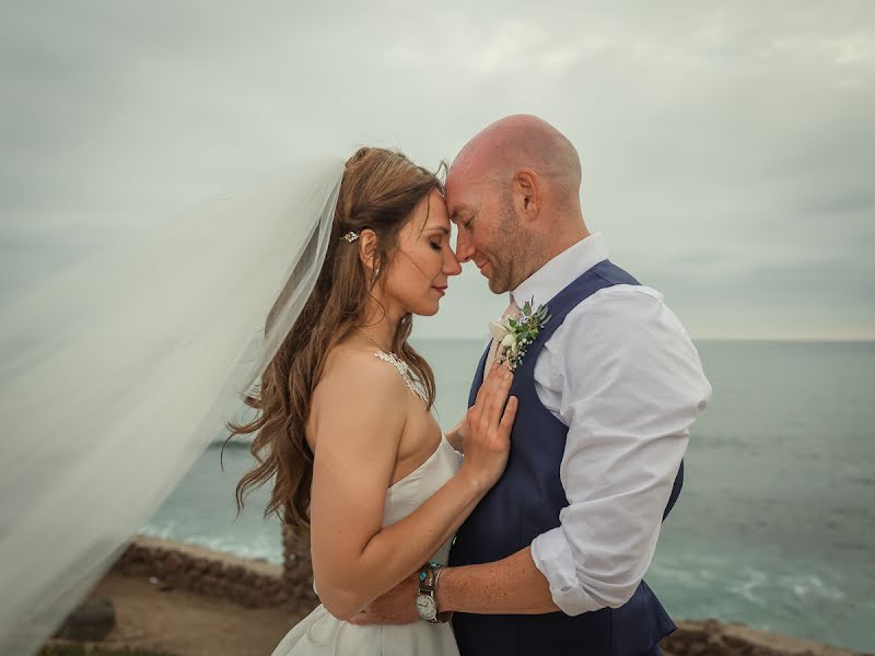
[[[447,174],[459,260],[510,293],[505,315],[533,300],[551,315],[516,364],[508,467],[434,591],[462,656],[660,654],[676,628],[643,576],[711,387],[663,295],[586,229],[580,186],[574,147],[533,116],[487,127]],[[354,621],[421,621],[417,588],[411,577]]]

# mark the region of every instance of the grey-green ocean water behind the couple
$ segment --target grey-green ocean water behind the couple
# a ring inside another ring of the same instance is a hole
[[[466,407],[483,340],[415,342],[439,421]],[[645,576],[675,619],[714,618],[875,652],[875,343],[697,343],[714,394]],[[218,435],[142,532],[282,561],[267,493],[234,522],[252,456]]]

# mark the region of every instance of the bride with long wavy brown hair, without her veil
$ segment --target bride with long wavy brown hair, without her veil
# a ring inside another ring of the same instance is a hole
[[[508,400],[506,367],[492,367],[444,436],[431,413],[431,367],[407,341],[412,315],[435,314],[460,272],[442,191],[396,152],[363,148],[347,162],[315,288],[246,399],[256,418],[230,423],[230,437],[257,433],[258,465],[237,484],[238,509],[247,490],[276,477],[267,512],[311,534],[322,605],[275,656],[458,653],[428,595],[417,605],[429,621],[348,621],[427,563],[421,576],[440,579],[454,532],[510,449],[516,399]]]

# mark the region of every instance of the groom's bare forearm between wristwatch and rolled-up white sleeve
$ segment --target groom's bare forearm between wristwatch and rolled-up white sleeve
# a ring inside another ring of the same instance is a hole
[[[438,586],[438,608],[478,614],[556,612],[550,587],[526,547],[482,565],[446,567]]]

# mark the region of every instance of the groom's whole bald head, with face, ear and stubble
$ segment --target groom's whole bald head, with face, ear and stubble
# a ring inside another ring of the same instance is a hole
[[[503,293],[588,233],[581,162],[571,142],[535,116],[502,118],[474,137],[446,176],[456,255]]]

